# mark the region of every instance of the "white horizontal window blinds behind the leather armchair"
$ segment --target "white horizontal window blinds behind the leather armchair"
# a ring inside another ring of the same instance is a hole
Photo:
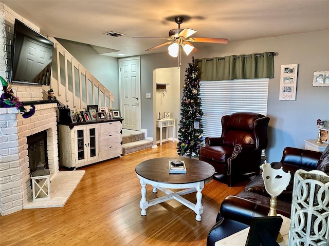
[[[268,78],[200,81],[204,136],[221,136],[223,115],[255,112],[266,115]]]

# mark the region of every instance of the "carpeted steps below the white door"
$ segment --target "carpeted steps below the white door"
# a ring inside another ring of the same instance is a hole
[[[122,155],[152,148],[152,141],[144,137],[143,132],[122,129]]]

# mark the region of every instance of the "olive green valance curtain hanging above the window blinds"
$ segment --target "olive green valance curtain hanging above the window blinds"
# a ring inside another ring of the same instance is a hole
[[[196,59],[200,79],[207,81],[273,78],[275,52]]]

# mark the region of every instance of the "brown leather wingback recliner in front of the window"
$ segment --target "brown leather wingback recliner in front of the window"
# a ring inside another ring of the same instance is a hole
[[[222,136],[206,137],[199,159],[212,165],[217,174],[226,175],[229,187],[242,174],[259,174],[268,122],[269,117],[251,112],[223,116]]]

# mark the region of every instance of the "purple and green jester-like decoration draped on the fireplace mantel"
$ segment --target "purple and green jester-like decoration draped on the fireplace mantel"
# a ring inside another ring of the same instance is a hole
[[[0,80],[3,86],[4,92],[0,97],[0,107],[1,108],[12,108],[16,107],[16,109],[20,110],[23,118],[31,117],[35,112],[35,106],[30,105],[30,111],[26,111],[23,106],[23,103],[20,101],[18,97],[16,97],[11,89],[11,85],[8,85],[7,81],[0,76]]]

